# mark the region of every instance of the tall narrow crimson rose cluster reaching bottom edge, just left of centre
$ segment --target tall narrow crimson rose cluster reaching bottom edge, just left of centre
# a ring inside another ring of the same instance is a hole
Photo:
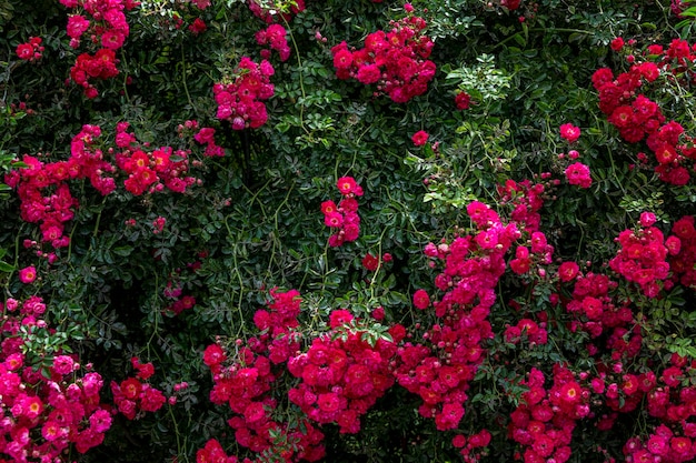
[[[240,445],[257,453],[272,453],[287,462],[318,461],[325,455],[324,434],[310,421],[301,420],[295,427],[274,419],[278,403],[271,387],[284,374],[274,365],[286,364],[299,350],[300,334],[296,329],[301,300],[296,290],[274,289],[270,295],[268,310],[259,310],[253,316],[258,336],[249,339],[247,345],[242,340],[225,348],[221,343],[210,344],[203,352],[203,362],[215,382],[210,401],[228,404],[235,413],[228,424]],[[238,461],[227,456],[220,444],[211,440],[198,451],[197,462],[218,461],[210,460],[216,455],[227,459],[219,461]]]

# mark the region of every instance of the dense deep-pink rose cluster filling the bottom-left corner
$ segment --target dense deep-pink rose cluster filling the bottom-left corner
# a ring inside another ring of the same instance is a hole
[[[28,349],[27,332],[49,341],[46,311],[36,295],[23,302],[8,299],[2,306],[0,455],[8,461],[33,462],[41,455],[41,461],[63,462],[71,445],[84,453],[101,444],[111,427],[111,413],[99,396],[99,373],[83,368],[77,355]]]

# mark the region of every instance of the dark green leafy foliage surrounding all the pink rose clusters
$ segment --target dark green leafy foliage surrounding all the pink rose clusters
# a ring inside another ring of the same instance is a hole
[[[415,290],[432,291],[437,274],[422,248],[464,233],[470,223],[466,207],[475,200],[494,205],[497,185],[506,180],[537,181],[545,172],[560,180],[545,192],[541,211],[541,229],[555,248],[553,265],[574,260],[585,271],[607,271],[603,263],[616,255],[615,238],[642,212],[655,213],[665,233],[693,213],[693,181],[675,188],[639,164],[638,148],[623,142],[598,111],[590,77],[600,67],[627,68],[624,57],[610,51],[615,37],[635,38],[637,56],[653,41],[689,37],[696,7],[677,22],[660,2],[524,0],[519,10],[508,11],[499,1],[414,1],[428,22],[438,70],[425,94],[395,103],[376,94],[374,84],[338,79],[331,47],[346,41],[361,48],[367,34],[388,31],[390,20],[406,16],[401,4],[307,1],[305,11],[279,21],[291,52],[287,61],[270,54],[275,95],[267,102],[268,122],[235,131],[216,117],[212,85],[231,82],[241,57],[259,60],[262,47],[255,33],[268,24],[247,2],[213,1],[199,10],[185,1],[141,1],[127,13],[130,34],[118,51],[119,74],[99,80],[93,100],[64,82],[82,51],[69,46],[68,10],[54,1],[39,3],[0,3],[6,51],[0,53],[0,173],[26,168],[24,154],[42,162],[69,159],[71,139],[86,123],[101,127],[101,148],[109,153],[117,123],[128,122],[141,143],[190,150],[191,174],[199,180],[186,193],[140,197],[122,188],[125,177],[107,197],[89,180],[71,182],[79,207],[66,227],[70,245],[56,250],[52,264],[37,256],[53,252],[48,243],[24,246],[24,240],[41,243],[41,231],[22,219],[18,194],[0,184],[0,283],[7,298],[43,296],[54,328],[21,329],[31,361],[48,368],[57,353],[79,354],[109,384],[122,381],[130,358],[139,356],[156,363],[152,384],[167,395],[176,383],[189,384],[176,405],[133,422],[115,420],[101,446],[71,455],[79,461],[192,462],[211,437],[225,441],[228,453],[246,455],[226,424],[229,411],[208,400],[212,380],[203,349],[216,340],[235,344],[257,335],[253,314],[275,286],[302,295],[306,340],[328,330],[336,309],[360,319],[338,330],[336,339],[359,332],[374,346],[391,340],[395,323],[417,339],[424,330],[416,326],[436,321],[411,304]],[[196,18],[207,24],[200,34],[187,29]],[[24,62],[14,53],[29,37],[43,39],[40,61]],[[665,102],[665,115],[694,133],[690,83],[664,79],[648,90]],[[471,97],[464,111],[454,103],[460,91]],[[225,157],[206,157],[200,143],[178,131],[189,120],[216,130]],[[558,137],[566,122],[583,130],[573,147]],[[430,134],[424,147],[410,140],[419,130]],[[590,164],[589,189],[565,183],[558,154],[570,148]],[[345,175],[365,190],[358,198],[361,231],[356,242],[331,248],[320,204],[339,200],[336,181]],[[501,215],[509,212],[504,210]],[[155,233],[160,217],[167,224]],[[380,259],[389,253],[392,260],[368,271],[361,265],[367,253]],[[29,264],[41,275],[33,285],[17,278]],[[541,278],[504,278],[498,285],[490,318],[496,336],[486,344],[460,427],[437,431],[418,414],[414,394],[392,389],[362,417],[360,433],[322,427],[326,461],[457,461],[453,435],[483,426],[495,444],[486,461],[511,461],[515,443],[506,440],[505,426],[527,391],[521,380],[529,369],[548,373],[560,362],[578,371],[593,368],[578,348],[589,342],[587,333],[569,330],[569,315],[550,303],[561,291]],[[171,288],[195,298],[195,306],[175,314]],[[646,350],[696,358],[693,289],[676,286],[658,301],[634,286],[619,291],[644,316]],[[566,292],[561,295],[571,298]],[[385,310],[379,323],[370,320],[378,306]],[[507,325],[540,313],[553,321],[549,338],[557,342],[531,349],[521,348],[526,338],[518,345],[505,342]],[[278,391],[290,383],[274,391],[289,415],[297,410]],[[577,434],[590,443],[601,439],[590,429]],[[626,440],[618,441],[610,445],[614,456]],[[577,449],[590,446],[578,442]],[[573,461],[584,457],[576,451]]]

